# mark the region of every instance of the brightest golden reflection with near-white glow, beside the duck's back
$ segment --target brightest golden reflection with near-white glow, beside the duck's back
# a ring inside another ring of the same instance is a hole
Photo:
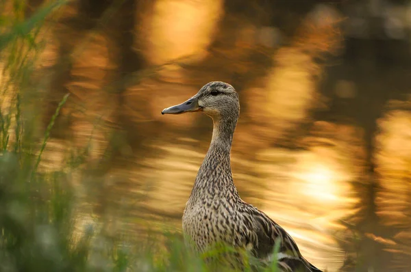
[[[308,259],[337,270],[343,252],[333,235],[343,228],[338,220],[352,213],[356,203],[349,185],[353,165],[341,163],[350,160],[349,154],[314,146],[307,151],[264,150],[258,160],[266,188],[251,203],[286,228]]]

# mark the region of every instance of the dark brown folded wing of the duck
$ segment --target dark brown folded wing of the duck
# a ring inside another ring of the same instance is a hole
[[[253,221],[253,234],[249,242],[252,243],[252,251],[257,258],[264,262],[271,262],[275,242],[279,241],[277,261],[283,271],[322,272],[301,256],[291,236],[265,213],[251,205],[248,213]]]

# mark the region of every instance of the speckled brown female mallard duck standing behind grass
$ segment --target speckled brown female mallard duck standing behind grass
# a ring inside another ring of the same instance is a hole
[[[282,271],[320,271],[308,262],[290,235],[258,208],[241,200],[232,178],[230,152],[240,103],[232,85],[215,81],[204,85],[186,102],[166,108],[162,114],[203,111],[214,123],[210,149],[201,165],[183,215],[184,236],[198,251],[223,242],[251,251],[267,261],[275,241]],[[279,238],[277,240],[277,238]]]

